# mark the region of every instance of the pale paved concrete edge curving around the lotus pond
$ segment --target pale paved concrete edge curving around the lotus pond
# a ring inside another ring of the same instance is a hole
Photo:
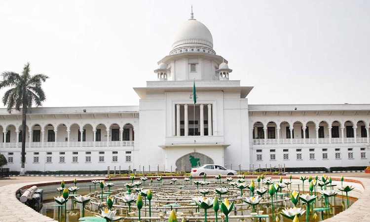
[[[257,176],[256,176],[257,177]],[[167,177],[166,177],[167,178]],[[172,178],[172,177],[168,177]],[[182,178],[182,177],[178,177]],[[203,177],[202,177],[203,178]],[[208,177],[207,177],[208,178]],[[246,178],[255,178],[253,176],[246,176]],[[279,177],[273,177],[279,178]],[[283,177],[284,179],[288,178],[287,176]],[[293,177],[298,179],[298,177]],[[112,181],[119,180],[123,178],[114,178]],[[108,180],[107,178],[94,179],[94,180]],[[129,179],[125,178],[123,180]],[[333,181],[338,181],[340,178],[334,178]],[[79,182],[89,182],[91,180],[84,179],[79,180]],[[361,197],[351,205],[347,210],[335,215],[334,217],[325,220],[325,222],[353,222],[353,221],[369,221],[370,218],[370,206],[367,201],[370,200],[370,179],[364,178],[350,178],[347,177],[344,179],[345,182],[357,183],[364,187],[364,191]],[[6,185],[1,187],[0,192],[0,222],[56,222],[52,218],[39,214],[37,211],[28,207],[27,205],[21,203],[15,196],[15,193],[18,189],[25,189],[33,185],[45,186],[45,185],[58,185],[61,180],[57,181],[46,181],[46,182],[33,182],[33,183],[22,183],[22,184],[13,184]],[[73,180],[65,181],[66,184],[72,184]]]

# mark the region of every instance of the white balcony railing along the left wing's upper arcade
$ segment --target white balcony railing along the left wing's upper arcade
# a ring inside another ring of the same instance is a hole
[[[86,141],[86,142],[27,142],[26,147],[40,148],[40,147],[127,147],[134,146],[135,141]],[[22,147],[22,143],[0,143],[0,148],[16,148]]]

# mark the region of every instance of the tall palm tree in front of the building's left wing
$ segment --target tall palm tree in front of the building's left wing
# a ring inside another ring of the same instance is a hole
[[[13,108],[20,111],[22,107],[22,168],[20,174],[24,175],[27,108],[31,108],[33,103],[36,104],[36,107],[42,105],[46,98],[41,83],[49,77],[44,74],[30,75],[30,63],[24,66],[22,74],[3,72],[1,75],[0,89],[11,87],[2,97],[2,103],[4,106],[7,105],[7,111],[11,113]]]

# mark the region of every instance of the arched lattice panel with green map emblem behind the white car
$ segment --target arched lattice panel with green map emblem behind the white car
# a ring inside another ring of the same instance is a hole
[[[191,168],[202,166],[204,164],[214,164],[214,161],[202,153],[192,152],[176,160],[176,171],[190,172]]]

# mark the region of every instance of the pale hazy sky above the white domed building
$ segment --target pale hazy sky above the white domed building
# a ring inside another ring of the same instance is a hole
[[[249,104],[370,104],[370,0],[1,0],[0,73],[48,75],[44,107],[139,105],[191,5]]]

